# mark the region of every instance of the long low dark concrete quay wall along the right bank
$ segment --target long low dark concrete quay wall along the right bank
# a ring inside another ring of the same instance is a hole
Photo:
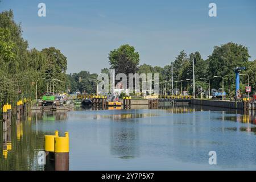
[[[207,100],[191,100],[191,104],[213,106],[213,107],[225,107],[230,109],[243,109],[243,102],[231,102],[231,101],[207,101]]]

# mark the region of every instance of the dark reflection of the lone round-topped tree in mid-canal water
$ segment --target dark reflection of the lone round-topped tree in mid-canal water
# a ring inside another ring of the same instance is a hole
[[[139,155],[139,133],[134,123],[115,123],[110,130],[110,151],[112,155],[122,159],[135,158]]]

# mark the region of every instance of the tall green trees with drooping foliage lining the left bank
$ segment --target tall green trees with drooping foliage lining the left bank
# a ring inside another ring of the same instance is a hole
[[[67,77],[67,57],[60,50],[50,47],[38,51],[29,49],[22,37],[20,24],[14,22],[12,10],[0,13],[0,103],[15,103],[22,96],[36,97],[46,91],[46,82],[61,80],[63,88]]]

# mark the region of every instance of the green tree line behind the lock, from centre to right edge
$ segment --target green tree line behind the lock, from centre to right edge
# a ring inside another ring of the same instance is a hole
[[[252,89],[256,90],[256,60],[249,61],[250,55],[247,47],[229,42],[221,46],[215,46],[211,55],[206,60],[201,57],[200,52],[196,51],[189,55],[183,50],[176,56],[175,60],[170,61],[166,66],[152,67],[148,64],[139,64],[139,53],[135,51],[133,46],[128,44],[122,45],[109,53],[110,68],[115,69],[117,73],[159,73],[159,82],[171,80],[171,64],[173,65],[174,81],[191,80],[189,81],[189,92],[192,93],[192,76],[193,65],[195,64],[195,80],[196,87],[202,86],[205,90],[208,90],[208,81],[200,80],[200,78],[207,78],[210,80],[211,88],[221,88],[222,79],[214,78],[213,76],[224,77],[225,91],[234,96],[235,90],[235,73],[234,68],[246,67],[244,74],[250,76],[250,85]],[[89,72],[88,72],[89,73]],[[102,69],[102,73],[109,73],[108,68]],[[78,82],[77,74],[74,73],[73,79]],[[88,76],[89,77],[89,76]],[[69,79],[70,80],[70,79]],[[178,83],[179,84],[179,83]],[[187,84],[183,83],[184,89],[187,89]],[[245,85],[247,84],[247,77],[241,77],[241,92],[245,93]],[[84,87],[89,86],[89,83],[84,82]],[[76,89],[81,89],[81,84],[73,84]],[[180,86],[180,84],[179,84]],[[75,90],[75,88],[73,88]],[[94,91],[90,89],[90,91]],[[88,91],[89,91],[88,90]],[[197,90],[197,89],[196,89]]]

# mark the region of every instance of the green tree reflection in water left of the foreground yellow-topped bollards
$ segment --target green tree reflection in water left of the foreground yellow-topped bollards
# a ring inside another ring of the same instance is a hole
[[[0,169],[1,170],[40,170],[37,166],[36,155],[43,149],[43,134],[36,135],[31,127],[30,119],[24,121],[12,121],[7,134],[0,131]],[[6,148],[5,144],[10,143],[7,157],[2,155]]]

